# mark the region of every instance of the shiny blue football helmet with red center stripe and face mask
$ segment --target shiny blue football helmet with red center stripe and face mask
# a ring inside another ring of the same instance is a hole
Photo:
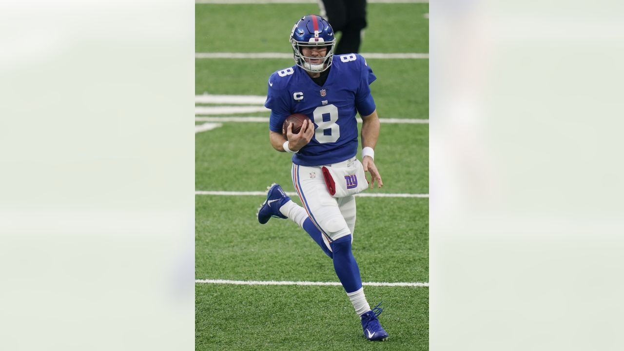
[[[316,14],[301,17],[290,32],[290,44],[293,46],[295,63],[308,72],[323,72],[331,66],[335,43],[334,30],[329,26],[329,22]],[[310,46],[325,47],[325,56],[303,56],[301,52],[303,47]],[[312,60],[321,62],[311,63]]]

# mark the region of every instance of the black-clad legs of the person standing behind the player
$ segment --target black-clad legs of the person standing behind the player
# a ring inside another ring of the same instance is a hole
[[[342,36],[334,54],[358,53],[361,32],[366,27],[366,0],[319,0],[321,17]]]

